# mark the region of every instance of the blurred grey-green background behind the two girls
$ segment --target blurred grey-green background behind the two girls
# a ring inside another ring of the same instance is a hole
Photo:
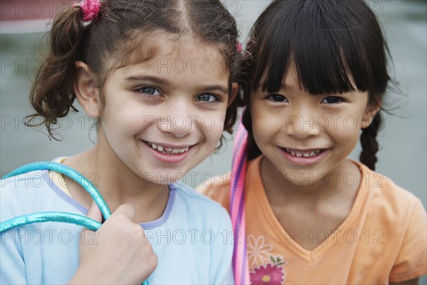
[[[26,1],[28,13],[39,13],[32,1]],[[38,1],[43,2],[43,1]],[[0,73],[0,172],[1,176],[20,165],[37,160],[51,160],[62,155],[75,155],[95,141],[91,120],[80,113],[60,120],[62,141],[48,140],[42,128],[32,130],[23,125],[23,118],[31,113],[28,90],[33,73],[41,63],[41,51],[46,37],[46,20],[35,19],[17,24],[6,15],[1,3],[1,73]],[[236,17],[241,41],[268,0],[224,0]],[[426,1],[367,1],[384,25],[386,38],[394,58],[391,74],[400,83],[404,96],[389,93],[386,107],[394,115],[386,115],[384,130],[379,135],[381,150],[377,170],[419,197],[427,204],[427,4]],[[22,7],[22,6],[21,6]],[[12,8],[13,9],[13,8]],[[33,9],[31,11],[31,9]],[[16,11],[15,14],[22,14]],[[28,14],[27,13],[27,14]],[[27,15],[24,15],[27,16]],[[13,15],[12,15],[13,18]],[[76,103],[77,104],[77,103]],[[231,136],[216,154],[184,177],[183,182],[196,186],[212,175],[221,175],[231,168]],[[360,148],[354,150],[357,159]],[[421,279],[421,284],[426,278]]]

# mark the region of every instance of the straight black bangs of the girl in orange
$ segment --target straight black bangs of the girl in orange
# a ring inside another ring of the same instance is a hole
[[[373,23],[358,15],[362,13],[352,13],[351,9],[360,7],[346,1],[278,2],[265,11],[276,9],[275,16],[261,16],[257,26],[263,28],[253,30],[258,35],[253,89],[262,86],[263,91],[278,92],[291,67],[300,88],[312,95],[376,89],[374,71],[376,63],[384,63],[384,52],[378,52],[383,46],[372,46],[378,41],[368,31]],[[341,16],[349,13],[356,21]]]

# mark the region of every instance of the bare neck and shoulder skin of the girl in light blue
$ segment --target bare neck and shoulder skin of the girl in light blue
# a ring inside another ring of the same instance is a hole
[[[113,150],[106,153],[105,147],[98,143],[64,163],[93,182],[111,212],[115,212],[121,204],[131,204],[135,207],[134,222],[150,222],[162,216],[169,197],[169,187],[139,177]],[[74,199],[90,207],[92,197],[83,187],[72,183],[69,190]]]

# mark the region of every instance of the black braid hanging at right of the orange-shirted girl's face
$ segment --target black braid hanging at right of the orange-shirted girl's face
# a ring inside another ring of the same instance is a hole
[[[362,145],[362,152],[360,153],[360,162],[367,165],[371,170],[375,170],[375,163],[377,161],[376,152],[379,150],[376,135],[381,127],[382,116],[381,112],[376,113],[374,120],[368,128],[362,130],[360,142]]]

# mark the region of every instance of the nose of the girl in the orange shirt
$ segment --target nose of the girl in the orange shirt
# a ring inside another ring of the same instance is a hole
[[[309,108],[298,108],[292,115],[286,117],[286,133],[299,140],[305,140],[320,134],[315,113]]]

